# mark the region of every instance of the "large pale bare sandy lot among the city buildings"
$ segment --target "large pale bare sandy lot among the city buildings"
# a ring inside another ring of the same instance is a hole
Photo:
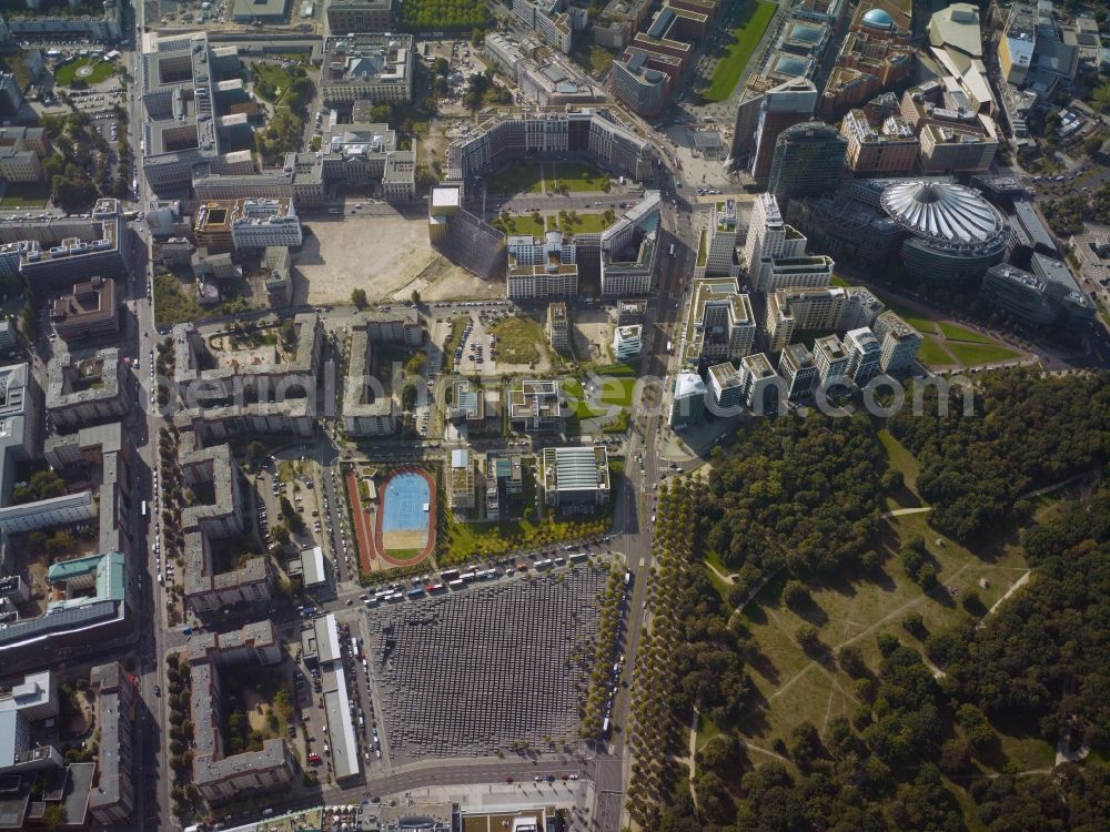
[[[422,215],[374,210],[305,223],[312,233],[293,264],[294,304],[349,303],[355,288],[365,290],[372,303],[407,298],[413,290],[426,301],[504,294],[503,283],[475,277],[433,250]]]

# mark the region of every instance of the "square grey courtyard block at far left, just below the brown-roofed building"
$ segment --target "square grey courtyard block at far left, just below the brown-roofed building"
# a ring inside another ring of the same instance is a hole
[[[54,429],[69,433],[115,422],[131,407],[128,372],[118,347],[77,359],[67,353],[47,366],[46,406]]]

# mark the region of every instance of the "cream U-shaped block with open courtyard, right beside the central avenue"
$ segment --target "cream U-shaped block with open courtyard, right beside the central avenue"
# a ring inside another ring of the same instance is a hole
[[[755,335],[751,300],[735,277],[694,282],[679,345],[684,364],[737,362],[751,352]]]

